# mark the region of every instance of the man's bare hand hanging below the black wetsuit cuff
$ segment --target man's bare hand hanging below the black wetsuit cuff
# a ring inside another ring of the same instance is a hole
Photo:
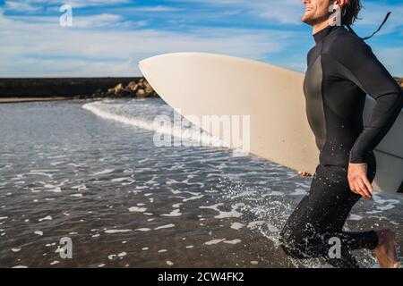
[[[366,176],[366,164],[348,164],[348,184],[350,189],[364,198],[372,198],[373,186]]]

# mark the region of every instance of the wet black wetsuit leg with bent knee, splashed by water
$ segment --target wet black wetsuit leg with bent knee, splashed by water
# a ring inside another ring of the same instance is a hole
[[[373,181],[374,156],[367,164],[368,179]],[[350,250],[373,249],[378,244],[375,231],[343,231],[351,208],[360,198],[349,189],[347,167],[318,165],[309,194],[301,200],[281,232],[282,248],[291,257],[323,257],[336,267],[357,267]],[[334,238],[340,241],[339,258],[329,256],[333,246],[330,239]]]

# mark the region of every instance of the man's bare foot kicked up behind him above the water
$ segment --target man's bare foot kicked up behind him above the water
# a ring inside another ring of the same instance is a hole
[[[378,246],[373,253],[381,268],[398,268],[398,253],[396,251],[396,235],[391,230],[376,231]]]

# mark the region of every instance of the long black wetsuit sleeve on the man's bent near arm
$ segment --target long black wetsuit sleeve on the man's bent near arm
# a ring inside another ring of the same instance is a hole
[[[339,43],[332,57],[345,67],[343,76],[375,99],[372,114],[350,150],[350,163],[365,163],[366,156],[382,141],[403,108],[401,88],[378,61],[370,46],[359,38]]]

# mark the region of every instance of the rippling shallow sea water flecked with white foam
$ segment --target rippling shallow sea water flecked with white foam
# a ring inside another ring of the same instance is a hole
[[[279,248],[311,179],[225,147],[156,147],[159,115],[174,112],[157,98],[0,105],[0,267],[327,266]],[[163,133],[177,128],[197,138]],[[402,214],[375,194],[346,229],[392,228],[401,247]]]

